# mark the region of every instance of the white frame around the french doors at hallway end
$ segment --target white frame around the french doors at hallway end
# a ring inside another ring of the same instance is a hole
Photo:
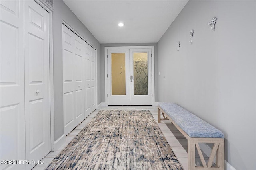
[[[155,62],[154,62],[154,45],[150,46],[119,46],[119,47],[105,47],[105,104],[104,106],[108,106],[108,49],[149,49],[151,48],[151,53],[152,53],[152,63],[151,63],[151,68],[152,68],[152,105],[154,106],[155,104]]]

